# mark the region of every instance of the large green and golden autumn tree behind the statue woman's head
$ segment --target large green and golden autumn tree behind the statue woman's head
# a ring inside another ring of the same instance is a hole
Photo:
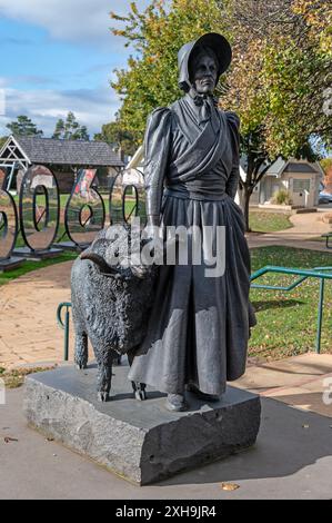
[[[155,0],[142,13],[132,3],[127,17],[112,14],[124,24],[113,32],[137,51],[112,86],[122,97],[121,125],[138,140],[147,115],[181,95],[180,47],[208,31],[231,41],[232,66],[218,91],[221,108],[234,110],[241,119],[247,177],[240,187],[248,229],[250,197],[271,162],[279,156],[314,160],[319,156],[312,144],[323,149],[331,142],[331,118],[323,110],[332,85],[331,57],[314,32],[318,22],[303,13],[301,3],[308,2]]]

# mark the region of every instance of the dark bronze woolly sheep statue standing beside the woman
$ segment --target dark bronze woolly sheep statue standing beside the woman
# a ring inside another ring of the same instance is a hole
[[[74,361],[88,364],[88,338],[98,363],[98,398],[109,399],[113,361],[127,354],[129,364],[145,335],[158,272],[153,264],[132,263],[131,226],[102,229],[81,253],[71,272]],[[139,237],[140,253],[149,239]],[[145,399],[145,385],[133,383],[137,399]]]

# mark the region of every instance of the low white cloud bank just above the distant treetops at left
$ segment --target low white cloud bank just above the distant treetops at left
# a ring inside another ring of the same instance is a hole
[[[1,117],[0,136],[8,134],[6,124],[19,115],[27,115],[44,131],[44,136],[51,136],[57,120],[73,111],[92,138],[102,124],[113,118],[118,107],[119,101],[112,90],[104,88],[67,91],[6,89],[6,114],[4,118]]]

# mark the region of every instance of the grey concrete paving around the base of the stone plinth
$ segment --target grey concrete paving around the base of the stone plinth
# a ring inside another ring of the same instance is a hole
[[[224,461],[139,487],[26,425],[24,389],[0,406],[0,499],[326,500],[332,497],[331,418],[262,397],[255,446]],[[4,443],[11,436],[18,442]],[[223,491],[221,482],[240,487]]]

